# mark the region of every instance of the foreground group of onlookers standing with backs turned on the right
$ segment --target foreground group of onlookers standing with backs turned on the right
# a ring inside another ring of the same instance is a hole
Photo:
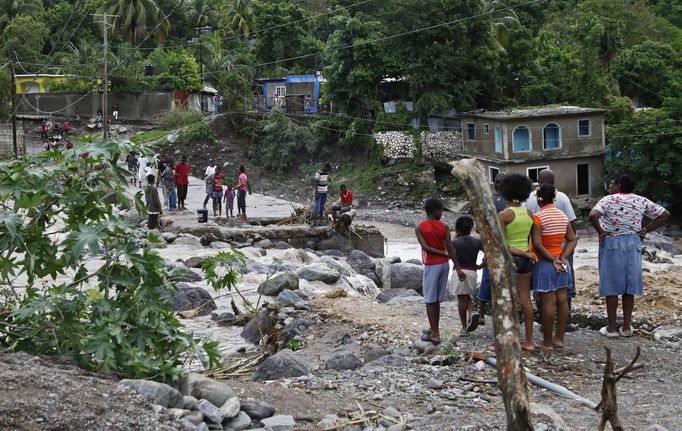
[[[506,246],[513,258],[524,338],[521,347],[532,351],[564,347],[564,333],[570,319],[571,298],[575,296],[573,251],[578,238],[576,216],[568,197],[554,187],[554,174],[543,170],[533,190],[531,180],[519,174],[500,173],[495,178],[493,199]],[[608,325],[600,330],[607,337],[632,336],[634,296],[643,293],[641,243],[647,233],[659,227],[669,213],[645,197],[633,193],[635,183],[627,174],[616,175],[609,195],[590,212],[599,234],[599,295],[605,297]],[[424,264],[424,301],[429,328],[422,340],[440,343],[440,302],[448,283],[457,295],[460,336],[485,324],[485,304],[492,300],[485,259],[477,264],[481,241],[472,237],[473,220],[460,217],[455,223],[454,241],[450,229],[440,221],[443,204],[437,199],[425,203],[426,220],[416,228]],[[644,217],[650,222],[642,225]],[[450,278],[450,265],[457,274]],[[476,270],[483,268],[476,291]],[[535,297],[542,322],[542,342],[533,338]],[[474,311],[477,297],[479,312]],[[618,330],[619,297],[623,303],[623,324]],[[556,322],[556,324],[555,324]]]

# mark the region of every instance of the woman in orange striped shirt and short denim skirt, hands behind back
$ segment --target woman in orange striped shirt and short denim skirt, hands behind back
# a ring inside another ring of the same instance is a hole
[[[540,212],[533,216],[531,241],[538,262],[533,268],[533,290],[542,299],[542,344],[551,349],[564,347],[564,329],[568,320],[568,288],[571,286],[573,268],[568,256],[573,252],[578,238],[566,215],[554,206],[556,188],[543,184],[537,189]],[[552,336],[554,318],[556,333]]]

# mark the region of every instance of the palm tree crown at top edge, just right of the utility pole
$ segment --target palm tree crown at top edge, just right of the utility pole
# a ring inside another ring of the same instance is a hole
[[[125,34],[130,43],[143,39],[157,26],[154,35],[158,41],[168,35],[170,24],[154,0],[109,0],[99,10],[104,11],[115,15],[110,19],[115,31]]]

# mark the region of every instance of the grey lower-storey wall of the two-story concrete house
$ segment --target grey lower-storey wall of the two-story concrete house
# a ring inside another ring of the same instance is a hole
[[[490,178],[490,168],[498,169],[500,172],[515,173],[521,175],[528,175],[529,169],[536,170],[540,168],[549,168],[555,174],[555,186],[557,189],[566,193],[571,198],[588,198],[590,196],[601,196],[604,186],[602,179],[604,176],[604,157],[577,157],[573,159],[558,159],[546,161],[529,161],[529,162],[494,162],[488,160],[481,160],[483,169],[488,180]],[[589,194],[578,195],[578,165],[588,165],[589,173]],[[491,181],[492,184],[492,181]]]

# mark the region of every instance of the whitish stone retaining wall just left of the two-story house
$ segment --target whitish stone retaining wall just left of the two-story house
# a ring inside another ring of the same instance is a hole
[[[464,149],[462,132],[421,132],[419,141],[405,132],[375,133],[374,139],[384,149],[388,159],[412,159],[421,156],[428,160],[449,161]],[[419,144],[419,145],[417,145]]]

